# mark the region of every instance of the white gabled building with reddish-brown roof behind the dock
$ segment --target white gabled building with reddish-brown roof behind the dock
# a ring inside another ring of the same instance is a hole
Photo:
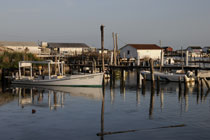
[[[121,58],[161,58],[162,48],[156,44],[127,44],[120,49]]]

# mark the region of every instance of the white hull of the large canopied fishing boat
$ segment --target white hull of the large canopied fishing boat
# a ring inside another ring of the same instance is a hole
[[[69,86],[69,87],[101,87],[103,73],[71,75],[60,79],[28,80],[19,79],[12,84],[39,85],[39,86]]]

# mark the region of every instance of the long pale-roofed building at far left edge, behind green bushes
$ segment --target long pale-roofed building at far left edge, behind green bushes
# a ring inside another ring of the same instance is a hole
[[[33,54],[41,53],[41,49],[36,42],[0,41],[0,48],[16,52],[30,52]]]

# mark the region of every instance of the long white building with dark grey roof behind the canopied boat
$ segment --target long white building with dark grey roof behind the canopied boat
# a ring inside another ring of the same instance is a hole
[[[76,55],[87,52],[89,46],[84,43],[47,43],[47,48],[51,49],[52,54]]]

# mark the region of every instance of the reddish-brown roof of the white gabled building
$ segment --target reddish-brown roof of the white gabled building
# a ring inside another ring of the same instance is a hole
[[[126,46],[131,46],[137,50],[161,50],[162,49],[156,44],[127,44],[124,47]]]

